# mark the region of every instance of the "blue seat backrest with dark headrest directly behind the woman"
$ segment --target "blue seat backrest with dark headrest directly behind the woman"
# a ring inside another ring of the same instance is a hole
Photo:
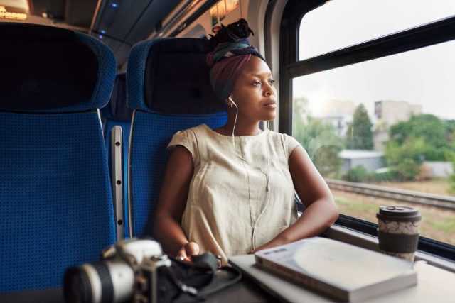
[[[200,123],[215,128],[227,120],[210,86],[205,64],[209,51],[206,39],[164,38],[138,43],[129,53],[127,97],[134,114],[128,189],[133,236],[153,236],[172,135]]]

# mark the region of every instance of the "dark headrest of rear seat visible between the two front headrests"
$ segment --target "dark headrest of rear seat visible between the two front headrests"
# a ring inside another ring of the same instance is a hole
[[[127,106],[127,74],[117,74],[107,106],[100,111],[103,119],[131,122],[133,111]]]

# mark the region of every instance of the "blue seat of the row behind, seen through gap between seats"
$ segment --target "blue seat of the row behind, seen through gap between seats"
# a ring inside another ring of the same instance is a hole
[[[106,147],[109,149],[111,136],[109,133],[114,126],[122,127],[123,131],[123,158],[124,158],[124,178],[128,175],[128,143],[129,143],[129,129],[131,127],[131,119],[133,111],[128,108],[127,105],[127,74],[125,72],[117,74],[114,82],[114,89],[112,90],[111,98],[107,106],[100,110],[103,133],[105,135]],[[107,160],[111,163],[111,155],[107,152]],[[109,170],[112,167],[109,165]],[[127,182],[123,182],[124,185],[124,217],[126,218],[124,228],[125,235],[128,235],[128,188]]]

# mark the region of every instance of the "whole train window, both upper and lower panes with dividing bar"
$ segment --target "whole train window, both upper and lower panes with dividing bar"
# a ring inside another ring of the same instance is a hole
[[[453,252],[455,2],[440,10],[377,2],[302,12],[300,61],[286,63],[291,110],[283,117],[291,119],[282,126],[328,181],[343,218],[370,226],[378,206],[414,206],[421,235],[435,243],[429,251],[440,243]]]

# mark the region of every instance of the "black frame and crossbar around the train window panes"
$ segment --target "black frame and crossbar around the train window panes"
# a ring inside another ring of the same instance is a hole
[[[299,28],[305,14],[326,0],[289,0],[284,8],[279,41],[279,132],[292,135],[292,80],[314,72],[416,50],[455,40],[455,16],[333,50],[299,61]],[[378,224],[341,214],[336,225],[377,237]],[[419,237],[418,250],[455,261],[455,246]]]

